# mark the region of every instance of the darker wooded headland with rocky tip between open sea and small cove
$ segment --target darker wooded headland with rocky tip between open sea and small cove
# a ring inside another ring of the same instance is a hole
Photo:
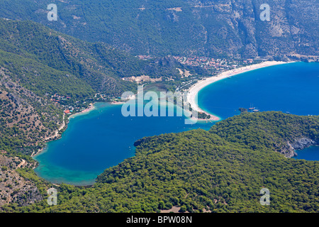
[[[319,145],[318,117],[296,117],[291,114],[242,114],[216,123],[210,132],[232,143],[252,150],[272,149],[293,157],[294,150]]]

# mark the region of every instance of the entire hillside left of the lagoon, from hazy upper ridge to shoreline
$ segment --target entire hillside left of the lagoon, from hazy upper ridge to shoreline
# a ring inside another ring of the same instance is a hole
[[[79,111],[96,94],[110,101],[134,92],[137,84],[123,77],[181,77],[174,62],[163,62],[140,60],[31,21],[0,19],[0,150],[36,153],[45,140],[58,137],[67,106]]]

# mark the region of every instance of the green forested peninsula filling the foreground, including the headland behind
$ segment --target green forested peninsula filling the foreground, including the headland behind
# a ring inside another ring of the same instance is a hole
[[[135,143],[136,156],[105,170],[94,187],[57,187],[57,206],[42,201],[2,209],[159,212],[176,206],[181,212],[318,212],[318,162],[276,152],[277,142],[298,138],[316,139],[318,145],[318,125],[318,116],[264,112],[229,118],[211,131],[142,138]],[[245,128],[256,128],[257,135]],[[292,128],[296,134],[288,133]],[[32,170],[22,175],[30,177]],[[270,191],[269,206],[259,204],[264,187]]]

